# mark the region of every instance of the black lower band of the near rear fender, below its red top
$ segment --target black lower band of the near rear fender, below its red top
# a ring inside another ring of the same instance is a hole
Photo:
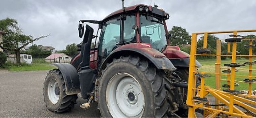
[[[154,49],[153,49],[154,50]],[[156,53],[156,51],[154,51]],[[158,52],[159,55],[163,55],[161,52]],[[176,67],[172,64],[172,62],[165,56],[156,56],[147,53],[146,51],[143,51],[141,49],[137,48],[126,48],[126,49],[120,49],[117,51],[111,52],[110,55],[104,60],[104,62],[101,64],[99,72],[101,74],[101,70],[103,70],[106,67],[107,63],[110,63],[113,58],[120,57],[120,56],[125,56],[125,55],[136,55],[136,56],[144,56],[147,58],[150,62],[152,62],[157,69],[162,69],[162,70],[175,70]]]

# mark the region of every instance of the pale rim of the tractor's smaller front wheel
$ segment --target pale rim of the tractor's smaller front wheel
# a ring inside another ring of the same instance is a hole
[[[55,79],[51,79],[49,82],[48,97],[53,104],[56,104],[60,99],[60,87]]]

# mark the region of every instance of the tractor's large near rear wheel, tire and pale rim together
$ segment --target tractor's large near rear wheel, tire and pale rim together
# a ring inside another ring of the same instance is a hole
[[[113,59],[99,86],[102,117],[163,117],[172,110],[172,91],[163,70],[139,57]]]

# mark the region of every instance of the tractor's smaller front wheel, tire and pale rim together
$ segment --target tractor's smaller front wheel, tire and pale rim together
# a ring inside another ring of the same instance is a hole
[[[59,69],[50,70],[44,80],[44,102],[56,113],[70,111],[76,104],[77,94],[67,95],[64,78]]]

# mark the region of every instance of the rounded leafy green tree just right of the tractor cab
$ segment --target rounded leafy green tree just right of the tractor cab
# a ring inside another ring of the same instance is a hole
[[[191,36],[185,28],[173,26],[172,30],[168,32],[170,37],[170,44],[173,46],[191,44]]]

